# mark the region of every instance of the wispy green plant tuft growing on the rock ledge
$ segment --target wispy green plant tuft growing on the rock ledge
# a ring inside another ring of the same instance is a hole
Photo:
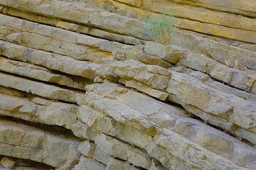
[[[163,45],[169,45],[175,30],[176,19],[173,16],[159,15],[143,18],[144,33],[152,40]]]

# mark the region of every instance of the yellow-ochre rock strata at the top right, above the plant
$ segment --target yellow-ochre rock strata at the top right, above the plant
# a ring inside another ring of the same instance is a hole
[[[141,6],[134,6],[130,1],[123,3],[122,1],[107,0],[107,3],[114,8],[129,11],[138,18],[147,16],[149,13],[153,15],[155,13],[171,14],[177,17],[176,26],[178,28],[255,44],[255,19],[237,16],[233,13],[208,10],[207,5],[188,6],[183,1],[178,1],[179,4],[176,2],[145,0]],[[90,4],[95,5],[95,3]],[[216,2],[216,4],[218,3]],[[251,2],[251,4],[253,3]],[[252,10],[252,13],[255,13],[255,8]],[[117,13],[127,15],[119,11]],[[239,23],[243,23],[242,26]]]

